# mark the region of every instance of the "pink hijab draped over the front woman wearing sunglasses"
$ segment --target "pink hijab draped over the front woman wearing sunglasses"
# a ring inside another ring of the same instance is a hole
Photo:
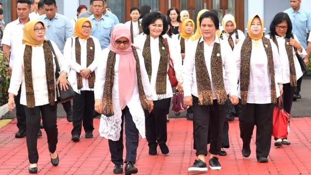
[[[124,51],[116,48],[116,40],[126,37],[129,41]],[[110,51],[119,54],[119,98],[121,109],[131,100],[136,85],[136,60],[134,57],[130,29],[125,24],[117,24],[111,32]]]

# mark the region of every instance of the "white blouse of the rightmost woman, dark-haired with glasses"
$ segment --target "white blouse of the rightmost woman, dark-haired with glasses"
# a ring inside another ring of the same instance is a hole
[[[293,34],[294,35],[294,34]],[[270,35],[265,35],[266,38],[270,38]],[[294,39],[299,42],[298,38],[296,35],[294,35]],[[290,78],[290,62],[288,61],[288,56],[285,48],[285,35],[284,36],[276,36],[276,41],[278,45],[278,53],[282,65],[282,72],[283,72],[283,83],[291,83],[291,78]],[[298,48],[300,49],[300,48]],[[300,53],[297,49],[298,54],[301,57],[305,57],[307,52],[304,48],[302,48],[302,53]],[[298,61],[298,58],[295,54],[294,48],[293,48],[293,56],[294,56],[294,65],[295,65],[295,71],[296,71],[296,77],[297,80],[302,76],[302,71],[300,68],[300,64]]]

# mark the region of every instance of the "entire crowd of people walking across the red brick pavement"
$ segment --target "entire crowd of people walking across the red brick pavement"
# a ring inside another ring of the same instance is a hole
[[[256,157],[268,162],[273,107],[283,96],[284,109],[291,112],[293,101],[301,98],[296,53],[309,62],[306,32],[311,30],[311,15],[300,3],[290,0],[291,8],[276,14],[267,35],[259,15],[248,19],[244,35],[234,16],[219,21],[218,12],[207,9],[197,14],[195,26],[187,10],[172,7],[165,15],[143,5],[132,7],[131,20],[121,24],[107,10],[107,0],[90,0],[89,8],[80,5],[71,20],[57,13],[55,0],[17,0],[18,19],[5,26],[0,8],[0,49],[9,56],[11,73],[8,108],[17,111],[15,137],[26,136],[29,173],[38,171],[40,128],[47,134],[52,165],[59,163],[58,84],[61,89],[70,85],[75,92],[72,105],[62,103],[72,122],[72,141],[80,141],[82,126],[85,138],[93,138],[93,117],[101,115],[99,134],[108,139],[113,173],[138,173],[139,135],[148,141],[150,156],[157,155],[158,146],[163,155],[169,154],[169,64],[176,89],[189,106],[186,118],[193,121],[197,159],[189,172],[207,171],[208,152],[209,168],[222,168],[218,156],[227,155],[224,148],[230,147],[229,122],[234,117],[239,117],[243,157],[251,154],[256,125]],[[287,138],[275,140],[275,146],[291,144]]]

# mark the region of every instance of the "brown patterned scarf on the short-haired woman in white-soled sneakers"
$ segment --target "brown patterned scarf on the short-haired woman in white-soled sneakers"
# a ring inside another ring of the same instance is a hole
[[[221,46],[214,43],[212,55],[210,57],[210,71],[212,77],[209,77],[205,58],[204,58],[204,42],[198,41],[195,52],[195,72],[198,87],[199,105],[213,105],[213,93],[210,80],[213,82],[214,90],[219,105],[225,105],[227,102],[227,93],[225,91],[223,77],[223,60],[221,55]]]

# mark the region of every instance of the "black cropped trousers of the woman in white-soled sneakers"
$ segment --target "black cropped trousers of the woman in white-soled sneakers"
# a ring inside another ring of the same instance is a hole
[[[223,127],[225,121],[225,111],[219,108],[217,100],[213,100],[213,105],[199,105],[199,99],[192,95],[193,111],[193,140],[196,156],[204,154],[207,156],[207,138],[210,128],[209,153],[218,155],[222,146]]]

